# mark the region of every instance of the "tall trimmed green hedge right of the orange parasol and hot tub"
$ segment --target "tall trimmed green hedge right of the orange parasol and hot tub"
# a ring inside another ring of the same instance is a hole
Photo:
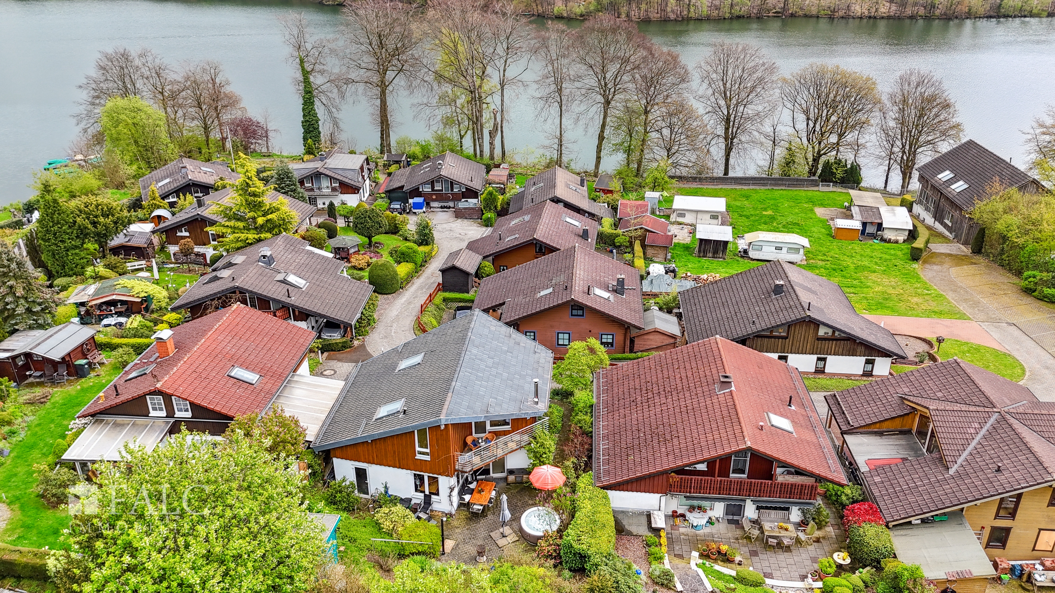
[[[615,551],[615,517],[608,493],[593,483],[593,472],[579,477],[575,486],[575,518],[560,540],[560,559],[570,571],[601,561]]]

